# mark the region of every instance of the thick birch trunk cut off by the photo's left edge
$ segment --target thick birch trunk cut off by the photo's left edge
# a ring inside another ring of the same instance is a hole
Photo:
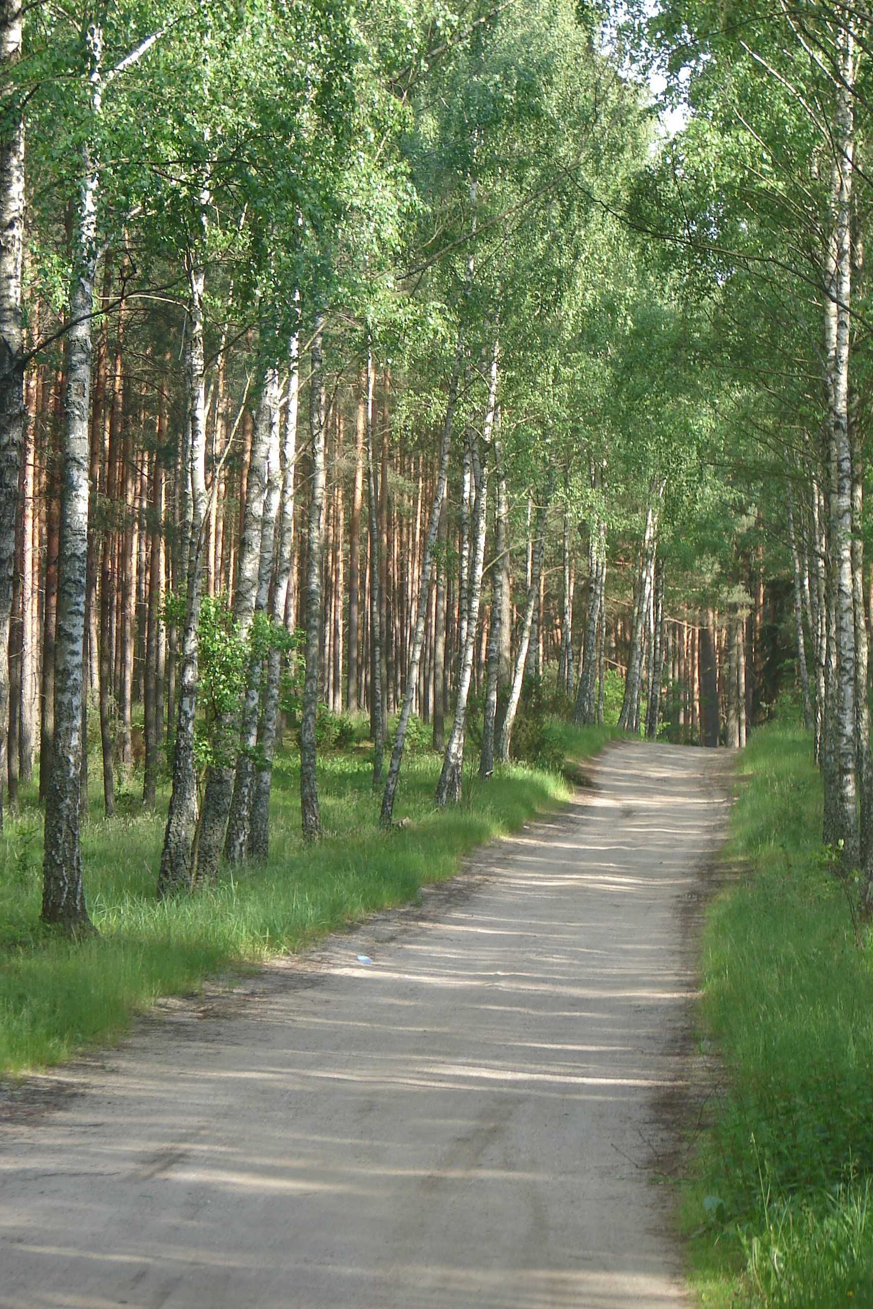
[[[0,830],[9,716],[9,626],[25,424],[21,272],[25,132],[13,82],[21,59],[21,0],[0,5]],[[29,579],[27,579],[29,585]],[[26,639],[26,637],[25,637]]]

